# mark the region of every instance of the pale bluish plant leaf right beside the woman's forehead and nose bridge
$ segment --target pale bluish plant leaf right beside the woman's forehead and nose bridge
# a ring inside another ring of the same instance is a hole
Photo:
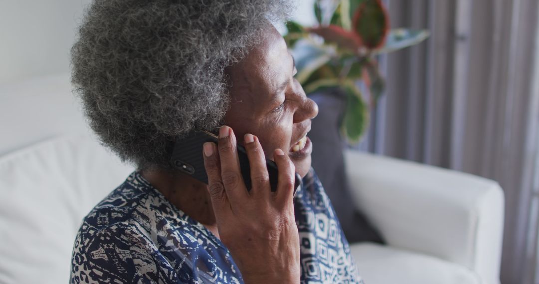
[[[309,39],[301,39],[296,42],[292,49],[292,55],[298,69],[296,79],[301,84],[305,83],[313,72],[331,60],[331,54],[327,48],[317,45]]]

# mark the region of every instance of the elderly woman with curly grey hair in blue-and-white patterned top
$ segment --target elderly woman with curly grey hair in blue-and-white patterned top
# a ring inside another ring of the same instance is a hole
[[[72,283],[362,282],[310,168],[317,106],[271,24],[290,10],[284,0],[92,4],[73,83],[102,143],[137,171],[85,217]],[[199,153],[208,185],[171,167],[176,137],[218,126]],[[265,159],[279,169],[274,192]]]

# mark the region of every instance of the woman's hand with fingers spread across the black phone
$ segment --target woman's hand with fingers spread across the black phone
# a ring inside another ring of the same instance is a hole
[[[250,191],[241,178],[232,129],[220,127],[218,150],[213,143],[204,144],[204,166],[219,238],[229,248],[245,283],[299,283],[294,164],[281,150],[275,150],[279,186],[272,192],[257,137],[245,134],[244,139],[251,168]]]

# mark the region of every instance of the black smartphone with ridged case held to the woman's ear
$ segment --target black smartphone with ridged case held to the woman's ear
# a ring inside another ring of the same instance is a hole
[[[178,171],[194,177],[194,179],[208,184],[208,175],[204,168],[204,157],[202,147],[206,142],[213,142],[217,145],[217,136],[211,132],[203,130],[193,130],[186,136],[176,139],[174,150],[170,158],[170,164]],[[239,167],[243,182],[247,191],[251,190],[251,169],[245,148],[237,145]],[[266,159],[266,168],[269,175],[271,190],[277,191],[279,182],[279,171],[274,161]],[[295,174],[294,196],[301,185],[301,176]]]

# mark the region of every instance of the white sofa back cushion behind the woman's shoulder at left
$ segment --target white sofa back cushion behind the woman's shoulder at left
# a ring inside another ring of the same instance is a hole
[[[82,217],[132,171],[82,134],[2,157],[0,283],[66,283]]]

